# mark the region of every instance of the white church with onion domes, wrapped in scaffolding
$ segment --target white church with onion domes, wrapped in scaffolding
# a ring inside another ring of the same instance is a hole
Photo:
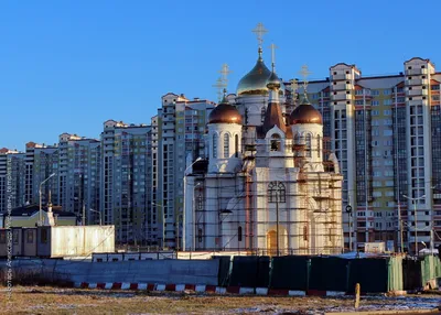
[[[303,96],[289,101],[294,91],[273,59],[271,70],[266,66],[261,34],[256,65],[209,113],[208,161],[187,161],[183,249],[341,253],[338,161],[324,153],[323,119],[308,100],[306,80]]]

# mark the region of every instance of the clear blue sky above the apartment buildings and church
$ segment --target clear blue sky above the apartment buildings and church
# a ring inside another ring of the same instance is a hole
[[[107,119],[149,123],[161,96],[216,100],[255,64],[251,30],[262,22],[277,70],[312,78],[356,64],[397,74],[413,56],[441,64],[441,1],[0,1],[0,148],[52,144],[63,132],[99,138]]]

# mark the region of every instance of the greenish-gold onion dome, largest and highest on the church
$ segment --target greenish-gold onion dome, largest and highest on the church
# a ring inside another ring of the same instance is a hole
[[[267,80],[271,72],[267,68],[261,57],[262,50],[259,47],[259,58],[255,67],[246,74],[237,85],[237,95],[267,95]]]

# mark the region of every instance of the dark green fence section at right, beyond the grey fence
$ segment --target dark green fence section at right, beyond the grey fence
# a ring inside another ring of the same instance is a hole
[[[354,293],[356,283],[363,293],[385,293],[434,289],[441,278],[438,257],[418,260],[405,257],[345,259],[338,257],[234,257],[219,272],[219,285],[269,287],[292,291],[336,291]]]

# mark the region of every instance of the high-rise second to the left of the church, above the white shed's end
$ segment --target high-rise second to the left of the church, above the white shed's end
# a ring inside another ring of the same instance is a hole
[[[117,242],[154,245],[147,238],[147,208],[150,194],[149,137],[151,127],[115,120],[104,123],[101,132],[100,211],[105,224],[115,225]],[[151,222],[154,225],[155,222]]]

